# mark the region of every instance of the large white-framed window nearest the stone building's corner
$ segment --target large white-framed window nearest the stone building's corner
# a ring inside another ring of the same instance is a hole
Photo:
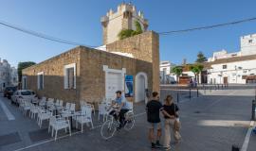
[[[76,63],[64,66],[64,89],[76,89]]]

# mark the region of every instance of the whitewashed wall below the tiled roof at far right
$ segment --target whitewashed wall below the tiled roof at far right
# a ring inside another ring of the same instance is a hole
[[[223,69],[223,65],[227,65],[227,69]],[[246,84],[246,79],[242,76],[256,75],[256,59],[235,61],[222,64],[211,65],[212,69],[208,70],[208,82],[210,79],[216,84],[224,83],[223,78],[228,77],[229,83]]]

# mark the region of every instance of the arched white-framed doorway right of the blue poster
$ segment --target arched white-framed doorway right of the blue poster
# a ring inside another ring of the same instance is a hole
[[[138,73],[136,76],[136,100],[135,102],[148,102],[145,90],[148,89],[148,76],[145,73]]]

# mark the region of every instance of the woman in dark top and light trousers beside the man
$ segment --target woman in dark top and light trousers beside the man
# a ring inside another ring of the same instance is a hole
[[[165,119],[165,139],[164,139],[164,146],[166,149],[170,149],[171,143],[171,131],[174,133],[174,122],[175,119],[178,118],[178,107],[174,104],[173,96],[167,95],[165,99],[165,104],[163,106],[164,112],[164,119]]]

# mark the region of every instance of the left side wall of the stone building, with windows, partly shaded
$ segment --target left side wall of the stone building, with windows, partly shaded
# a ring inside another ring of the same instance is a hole
[[[64,101],[79,100],[80,89],[64,90],[64,65],[76,63],[77,88],[80,87],[80,47],[71,49],[59,56],[47,59],[23,70],[27,76],[27,89],[39,96],[58,98]],[[44,72],[44,89],[37,88],[37,73]]]

